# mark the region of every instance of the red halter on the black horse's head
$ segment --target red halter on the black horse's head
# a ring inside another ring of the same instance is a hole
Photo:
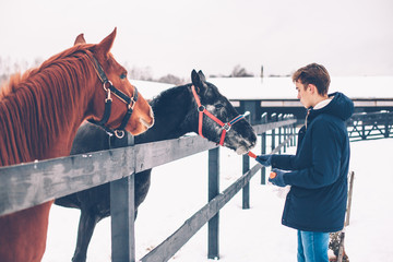
[[[196,102],[196,105],[198,105],[198,111],[199,111],[198,133],[202,138],[204,138],[203,134],[202,134],[202,124],[203,124],[203,114],[205,114],[207,117],[210,117],[213,121],[215,121],[216,123],[218,123],[223,128],[222,136],[221,136],[221,140],[219,140],[219,145],[223,145],[226,132],[230,130],[230,127],[234,123],[236,123],[240,119],[243,119],[245,115],[239,115],[236,118],[234,118],[233,120],[230,120],[229,122],[224,123],[222,120],[219,120],[218,118],[213,116],[210,111],[207,111],[206,108],[203,105],[201,105],[201,100],[200,100],[199,96],[196,95],[195,87],[193,85],[191,86],[191,90],[192,90],[192,94],[193,94],[193,96],[195,98],[195,102]]]

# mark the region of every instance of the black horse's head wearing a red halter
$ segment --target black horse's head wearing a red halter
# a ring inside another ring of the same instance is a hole
[[[193,70],[191,79],[195,111],[199,118],[199,134],[210,141],[221,143],[238,154],[249,152],[257,142],[255,132],[250,123],[236,111],[215,85],[206,82],[202,71],[196,73]],[[201,118],[202,120],[200,120]]]

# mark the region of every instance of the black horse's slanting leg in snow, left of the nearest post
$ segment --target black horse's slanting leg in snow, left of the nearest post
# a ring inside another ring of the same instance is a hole
[[[81,210],[81,218],[78,228],[78,240],[73,262],[85,262],[87,255],[87,247],[92,239],[93,231],[100,217],[97,214]]]

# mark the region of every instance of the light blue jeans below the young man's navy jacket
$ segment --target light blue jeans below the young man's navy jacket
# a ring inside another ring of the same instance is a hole
[[[329,262],[329,233],[298,230],[298,262]]]

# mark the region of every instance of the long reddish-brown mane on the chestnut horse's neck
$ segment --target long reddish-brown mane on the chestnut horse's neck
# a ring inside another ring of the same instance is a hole
[[[41,159],[49,142],[69,128],[67,119],[87,99],[87,81],[95,76],[92,47],[67,49],[0,88],[0,166]]]

